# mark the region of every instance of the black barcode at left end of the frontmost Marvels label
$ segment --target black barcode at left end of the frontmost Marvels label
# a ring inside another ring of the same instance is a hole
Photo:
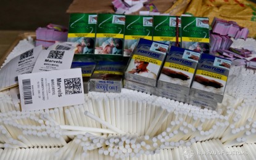
[[[22,79],[22,90],[25,105],[33,104],[30,79]]]

